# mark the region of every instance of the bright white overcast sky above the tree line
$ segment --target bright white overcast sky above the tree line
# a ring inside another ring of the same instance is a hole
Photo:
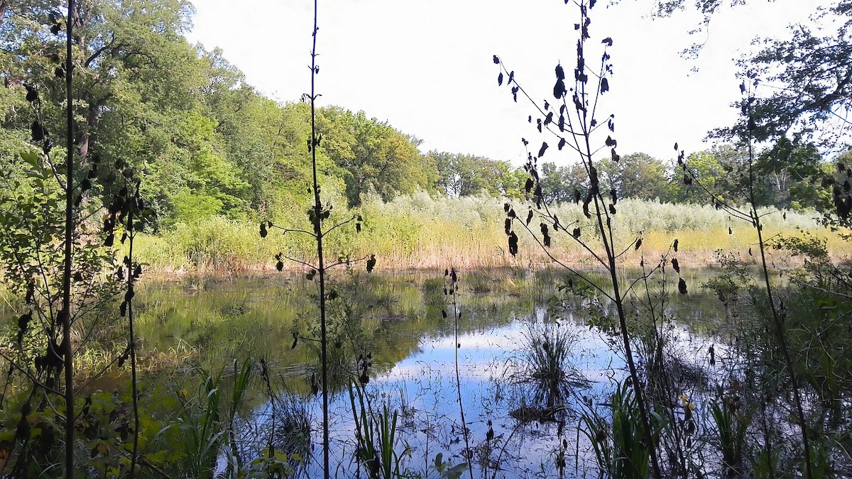
[[[249,84],[277,101],[309,92],[311,0],[192,2],[191,42],[221,48]],[[786,35],[788,25],[806,21],[819,4],[751,0],[721,9],[704,32],[690,36],[701,20],[695,12],[652,19],[650,0],[599,1],[589,44],[613,38],[613,77],[600,117],[615,115],[619,153],[668,160],[675,142],[687,153],[709,147],[707,131],[736,119],[734,60],[753,38]],[[318,101],[388,121],[423,140],[423,152],[521,164],[527,157],[521,138],[535,148],[546,138],[535,128],[533,105],[512,101],[505,82],[498,87],[492,55],[539,104],[552,101],[556,64],[573,70],[578,17],[573,2],[563,0],[321,0]],[[684,58],[682,50],[693,43],[704,43],[698,58]],[[544,160],[576,161],[567,149]]]

